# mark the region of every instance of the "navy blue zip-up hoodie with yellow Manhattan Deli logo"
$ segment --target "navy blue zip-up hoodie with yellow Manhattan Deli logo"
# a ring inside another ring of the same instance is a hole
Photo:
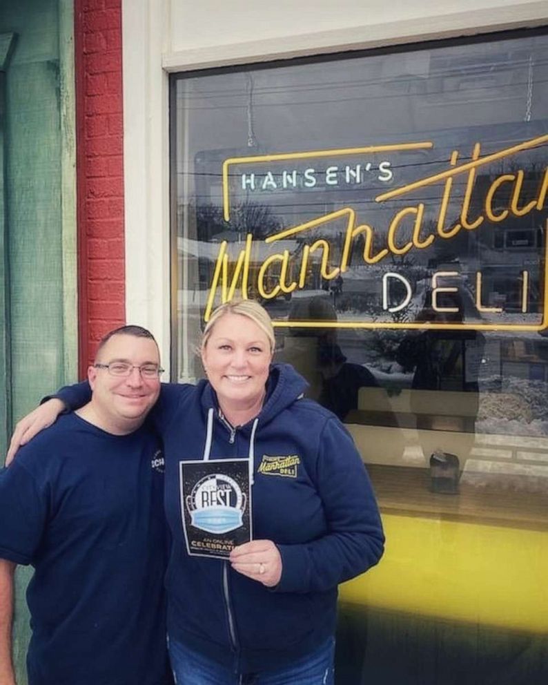
[[[305,388],[293,367],[273,365],[264,407],[244,426],[232,428],[219,416],[206,380],[196,387],[162,385],[151,414],[164,438],[173,540],[168,633],[242,673],[282,668],[320,647],[335,633],[338,583],[382,556],[380,515],[360,454],[336,416],[302,398]],[[71,389],[59,397],[75,405]],[[275,588],[239,574],[228,561],[188,556],[179,461],[206,453],[209,459],[252,456],[253,537],[272,540],[280,550],[282,577]],[[295,475],[260,470],[264,457],[272,456],[296,457]]]

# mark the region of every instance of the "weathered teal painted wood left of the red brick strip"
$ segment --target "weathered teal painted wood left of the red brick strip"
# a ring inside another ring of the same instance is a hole
[[[0,383],[7,380],[6,387],[0,385],[0,407],[9,428],[43,394],[76,378],[72,0],[2,0],[0,35],[7,31],[17,32],[3,83],[5,202],[0,208],[5,237],[0,264],[8,267],[0,266],[0,285],[2,278],[6,281],[0,336],[11,350],[11,374],[1,374]],[[28,568],[17,570],[13,651],[18,685],[27,682],[30,575]]]

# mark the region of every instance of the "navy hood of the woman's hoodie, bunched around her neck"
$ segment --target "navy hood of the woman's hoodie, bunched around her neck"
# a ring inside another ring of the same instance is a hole
[[[272,364],[266,381],[266,398],[261,412],[257,416],[257,425],[259,427],[266,425],[289,405],[302,398],[308,385],[306,380],[297,374],[291,365]],[[199,392],[204,413],[207,413],[208,409],[211,408],[216,411],[219,410],[217,394],[208,380],[199,381],[197,392]],[[252,421],[246,423],[246,427],[250,427],[250,430],[252,423]]]

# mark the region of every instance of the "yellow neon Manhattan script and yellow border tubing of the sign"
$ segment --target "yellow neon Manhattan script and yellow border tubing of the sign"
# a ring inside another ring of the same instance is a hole
[[[399,197],[424,188],[433,184],[443,183],[443,190],[438,207],[438,216],[435,226],[424,225],[424,203],[410,204],[399,209],[391,218],[384,244],[380,244],[380,240],[375,240],[375,228],[366,223],[358,223],[355,210],[350,206],[343,207],[337,211],[333,211],[315,218],[311,221],[292,226],[289,229],[284,229],[278,233],[273,233],[265,239],[267,244],[275,243],[279,240],[292,238],[297,234],[309,235],[310,231],[319,226],[326,224],[337,224],[340,226],[341,222],[344,226],[344,242],[342,251],[340,251],[340,258],[335,260],[334,249],[325,238],[306,242],[302,251],[298,255],[291,255],[291,253],[284,249],[283,251],[268,255],[268,257],[260,264],[257,273],[257,293],[264,300],[269,300],[280,295],[280,293],[292,293],[295,290],[301,290],[306,287],[306,279],[311,271],[311,255],[317,253],[321,255],[320,273],[324,280],[333,280],[340,274],[344,273],[349,268],[350,255],[358,236],[363,238],[362,260],[364,264],[377,264],[388,255],[404,255],[412,249],[426,249],[431,246],[435,240],[450,240],[464,229],[465,231],[475,231],[478,229],[484,220],[487,218],[489,222],[498,223],[507,219],[509,216],[515,218],[522,218],[531,211],[541,211],[545,207],[547,193],[548,193],[548,168],[545,169],[542,180],[538,186],[538,192],[535,200],[530,200],[527,204],[522,204],[520,195],[522,193],[522,185],[525,177],[525,171],[518,169],[513,173],[505,173],[495,177],[482,203],[482,211],[476,216],[470,216],[471,194],[473,191],[474,182],[476,180],[476,170],[481,166],[491,164],[497,160],[502,160],[505,157],[520,153],[522,151],[538,147],[548,142],[548,135],[542,135],[518,145],[505,148],[496,153],[489,155],[481,155],[480,143],[476,143],[473,147],[471,161],[463,164],[458,164],[458,151],[453,151],[449,159],[449,168],[442,173],[427,176],[418,179],[411,184],[400,186],[392,189],[386,193],[382,193],[375,197],[375,202],[379,204],[391,200],[393,197]],[[384,151],[398,152],[409,151],[413,149],[430,149],[433,148],[432,142],[420,142],[400,145],[386,145],[386,146],[369,146],[363,148],[345,148],[337,150],[313,151],[306,153],[284,153],[280,155],[262,155],[255,157],[233,157],[225,160],[223,164],[223,198],[224,198],[224,216],[228,221],[230,218],[229,211],[229,192],[228,192],[228,170],[233,164],[256,164],[259,162],[277,162],[280,160],[297,160],[307,159],[311,157],[322,156],[336,156],[336,155],[351,155],[357,153],[378,153]],[[453,189],[453,179],[458,175],[466,175],[466,185],[462,202],[460,204],[459,221],[447,225],[447,209],[451,199],[451,191]],[[505,187],[506,186],[506,187]],[[505,193],[509,197],[507,206],[501,205],[500,189],[505,188],[509,193]],[[411,226],[411,233],[407,235]],[[402,228],[406,229],[407,238],[402,237]],[[377,238],[379,236],[376,236]],[[376,249],[374,246],[377,246]],[[213,274],[213,281],[208,296],[208,302],[205,312],[205,320],[208,320],[213,309],[213,304],[217,295],[217,289],[221,289],[222,302],[229,301],[233,298],[235,291],[240,283],[240,289],[243,298],[248,298],[250,287],[250,269],[251,269],[251,252],[253,249],[252,235],[246,236],[246,244],[243,250],[240,251],[235,266],[232,269],[232,275],[229,276],[229,262],[228,254],[226,252],[227,243],[222,242],[219,247],[217,261],[215,264],[215,271]],[[297,264],[295,268],[295,260]],[[545,262],[546,263],[546,262]],[[476,285],[478,292],[481,292],[481,273],[476,275]],[[545,278],[545,282],[548,279]],[[522,272],[522,311],[527,311],[527,288],[529,285],[529,273]],[[545,295],[547,292],[547,285],[545,284]],[[544,298],[545,309],[547,307],[547,297]],[[485,307],[481,303],[480,294],[476,296],[476,305],[478,311],[500,311],[496,308]],[[546,312],[542,316],[542,322],[539,325],[508,325],[512,329],[523,330],[538,330],[545,327],[545,320],[547,320]],[[303,325],[317,326],[317,322],[280,322],[280,325]],[[424,322],[414,325],[406,322],[398,324],[393,322],[322,322],[324,327],[404,327],[404,328],[424,328],[424,327],[438,327],[438,328],[465,328],[462,324],[431,324],[425,325]],[[502,325],[492,324],[475,324],[471,325],[474,329],[491,329],[493,327],[504,327]]]

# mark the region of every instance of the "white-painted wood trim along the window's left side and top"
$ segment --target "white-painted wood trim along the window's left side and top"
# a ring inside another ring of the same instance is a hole
[[[548,19],[548,1],[501,4],[458,12],[450,18],[437,15],[427,20],[311,31],[282,41],[266,39],[171,52],[170,0],[122,0],[126,320],[153,331],[168,372],[168,73],[542,26]]]

